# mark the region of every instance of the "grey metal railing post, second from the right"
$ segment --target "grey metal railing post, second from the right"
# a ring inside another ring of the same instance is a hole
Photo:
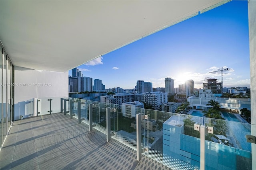
[[[141,114],[136,115],[136,136],[137,136],[137,160],[140,161],[142,157],[141,147]]]

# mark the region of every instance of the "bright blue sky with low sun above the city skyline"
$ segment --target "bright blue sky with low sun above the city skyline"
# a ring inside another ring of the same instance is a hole
[[[192,79],[202,88],[206,77],[226,87],[250,87],[247,1],[232,1],[78,66],[83,76],[101,79],[106,88],[132,89],[137,80],[164,87]],[[72,75],[69,71],[69,75]]]

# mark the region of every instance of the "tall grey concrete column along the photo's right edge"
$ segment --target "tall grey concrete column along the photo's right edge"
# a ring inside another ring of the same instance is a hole
[[[248,1],[250,80],[251,80],[251,135],[256,136],[256,1]],[[250,135],[250,134],[248,134]],[[252,143],[252,169],[256,169],[256,144]]]

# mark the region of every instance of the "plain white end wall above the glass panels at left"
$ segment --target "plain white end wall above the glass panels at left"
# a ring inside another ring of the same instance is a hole
[[[62,96],[68,98],[68,72],[32,70],[14,66],[14,75],[14,82],[21,84],[14,86],[14,120],[20,119],[20,115],[25,115],[25,109],[21,108],[27,100]],[[34,83],[40,83],[42,86],[33,86]],[[32,86],[22,84],[32,84]]]

